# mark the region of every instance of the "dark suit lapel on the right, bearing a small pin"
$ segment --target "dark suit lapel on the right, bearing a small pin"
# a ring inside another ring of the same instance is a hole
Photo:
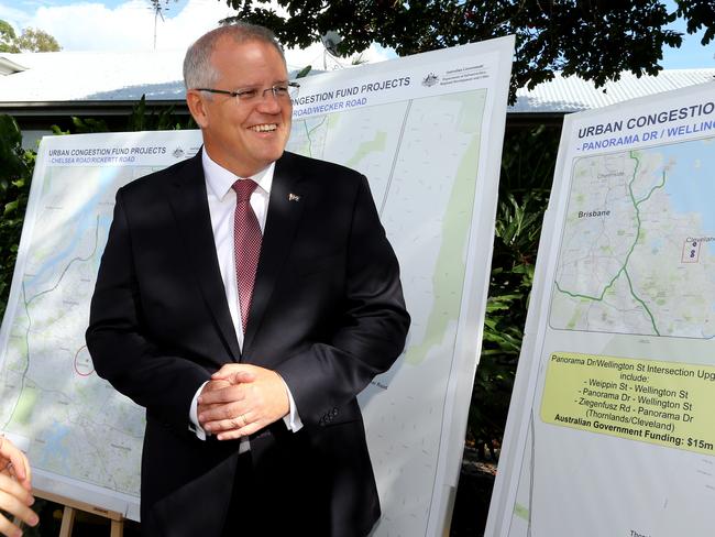
[[[304,197],[308,187],[301,182],[301,174],[296,166],[295,156],[284,153],[276,161],[268,201],[268,217],[261,244],[261,257],[253,285],[253,298],[249,325],[243,338],[244,353],[250,352],[251,344],[261,321],[266,314],[266,308],[276,284],[286,255],[298,228],[298,221],[305,207]],[[251,358],[249,358],[251,361]]]

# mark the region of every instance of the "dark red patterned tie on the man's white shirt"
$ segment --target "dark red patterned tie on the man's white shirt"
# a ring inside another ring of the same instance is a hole
[[[239,305],[243,333],[249,320],[255,271],[261,255],[261,227],[251,208],[251,194],[255,182],[239,179],[233,184],[235,190],[235,212],[233,213],[233,255],[235,256],[235,275],[239,283]]]

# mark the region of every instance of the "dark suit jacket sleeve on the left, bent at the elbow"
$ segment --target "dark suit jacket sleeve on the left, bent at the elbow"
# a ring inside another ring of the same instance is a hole
[[[191,397],[209,373],[167,354],[147,336],[122,190],[91,300],[87,348],[97,373],[157,418],[188,424]]]

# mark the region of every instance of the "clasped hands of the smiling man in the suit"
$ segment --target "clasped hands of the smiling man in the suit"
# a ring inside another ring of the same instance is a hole
[[[213,373],[198,404],[199,424],[219,440],[252,435],[290,410],[278,373],[244,363],[227,364]]]

